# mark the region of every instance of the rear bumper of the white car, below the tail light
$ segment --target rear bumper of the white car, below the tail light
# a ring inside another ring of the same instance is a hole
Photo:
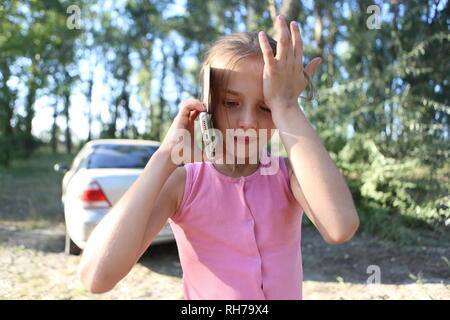
[[[100,220],[108,213],[110,209],[82,209],[74,208],[68,210],[65,208],[64,214],[66,219],[67,232],[75,244],[84,249],[91,232],[100,222]],[[153,244],[165,243],[175,240],[172,229],[167,223],[159,234],[153,239]]]

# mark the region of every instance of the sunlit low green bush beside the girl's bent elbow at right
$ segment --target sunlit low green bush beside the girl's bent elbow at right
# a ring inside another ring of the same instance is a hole
[[[432,189],[428,177],[416,174],[420,159],[387,157],[367,134],[349,139],[331,156],[347,177],[362,230],[408,241],[414,228],[444,230],[450,225],[448,189]],[[431,199],[418,197],[423,194]]]

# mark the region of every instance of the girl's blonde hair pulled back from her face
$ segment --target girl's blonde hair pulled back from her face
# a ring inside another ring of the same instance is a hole
[[[277,42],[270,36],[268,36],[268,39],[273,55],[275,56],[277,53]],[[225,61],[224,69],[211,68],[211,113],[213,114],[214,127],[216,127],[214,111],[223,98],[221,95],[226,91],[224,89],[228,87],[230,71],[235,68],[240,60],[249,57],[263,59],[258,32],[238,32],[222,36],[206,51],[205,59],[200,68],[199,79],[203,79],[202,75],[205,65],[211,65],[218,59]],[[316,88],[312,83],[310,75],[304,69],[303,72],[308,79],[308,86],[311,86],[311,88],[309,97],[300,97],[311,101],[316,96]]]

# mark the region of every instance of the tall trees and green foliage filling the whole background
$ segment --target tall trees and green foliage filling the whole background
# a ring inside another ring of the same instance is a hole
[[[107,120],[98,106],[89,109],[99,136],[162,139],[181,100],[198,96],[205,49],[231,32],[275,36],[274,12],[287,10],[301,25],[305,62],[323,58],[314,76],[319,97],[302,107],[347,178],[361,229],[399,241],[419,227],[448,230],[448,1],[187,0],[174,12],[177,3],[80,0],[82,28],[69,30],[68,0],[3,0],[0,165],[39,145],[31,135],[35,101],[63,99],[55,117],[68,121],[72,90],[91,101],[98,67],[109,89]],[[366,27],[372,4],[382,7],[380,29]],[[145,132],[137,133],[143,119]],[[52,131],[55,140],[61,131]]]

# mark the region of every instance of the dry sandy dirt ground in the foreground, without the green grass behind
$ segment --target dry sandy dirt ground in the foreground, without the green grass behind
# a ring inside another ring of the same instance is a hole
[[[79,282],[80,257],[63,251],[62,223],[27,231],[3,224],[0,299],[183,299],[175,243],[152,246],[113,290],[100,295]],[[332,246],[304,228],[302,255],[304,299],[450,299],[448,246],[405,247],[364,235]],[[370,268],[379,268],[380,284],[367,283]]]

